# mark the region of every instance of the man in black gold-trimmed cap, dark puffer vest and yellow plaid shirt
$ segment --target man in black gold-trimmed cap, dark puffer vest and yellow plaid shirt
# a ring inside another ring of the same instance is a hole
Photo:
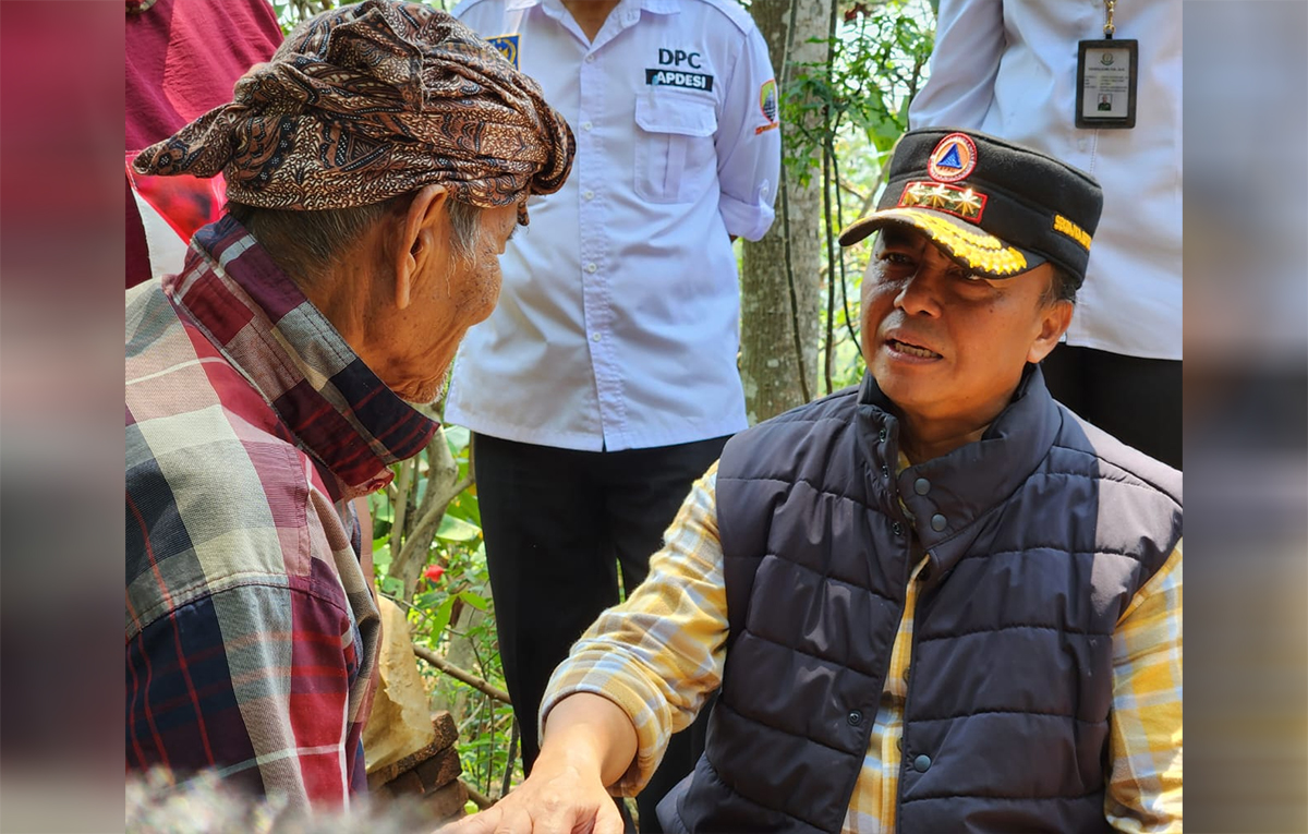
[[[863,384],[727,443],[555,672],[532,776],[459,830],[616,831],[606,786],[721,686],[670,830],[1180,831],[1180,473],[1039,367],[1100,205],[1044,154],[906,135],[841,235],[880,230]]]

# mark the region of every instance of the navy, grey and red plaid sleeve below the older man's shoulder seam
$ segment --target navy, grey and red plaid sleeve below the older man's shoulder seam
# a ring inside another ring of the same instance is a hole
[[[298,808],[345,804],[356,643],[336,604],[271,582],[170,612],[127,644],[129,766],[215,770]]]

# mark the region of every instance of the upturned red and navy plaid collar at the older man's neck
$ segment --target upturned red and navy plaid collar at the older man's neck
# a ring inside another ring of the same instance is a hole
[[[388,467],[436,433],[230,216],[195,233],[186,268],[164,286],[347,498],[388,484]]]

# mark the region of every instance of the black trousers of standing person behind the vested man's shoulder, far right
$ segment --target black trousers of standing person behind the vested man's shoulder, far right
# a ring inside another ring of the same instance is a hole
[[[1056,400],[1146,455],[1181,468],[1181,362],[1058,345],[1041,363]]]

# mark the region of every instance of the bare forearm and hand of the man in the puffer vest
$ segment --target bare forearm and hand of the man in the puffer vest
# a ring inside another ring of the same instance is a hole
[[[636,728],[612,701],[577,693],[555,705],[531,775],[481,813],[441,834],[623,834],[604,788],[636,758]]]

